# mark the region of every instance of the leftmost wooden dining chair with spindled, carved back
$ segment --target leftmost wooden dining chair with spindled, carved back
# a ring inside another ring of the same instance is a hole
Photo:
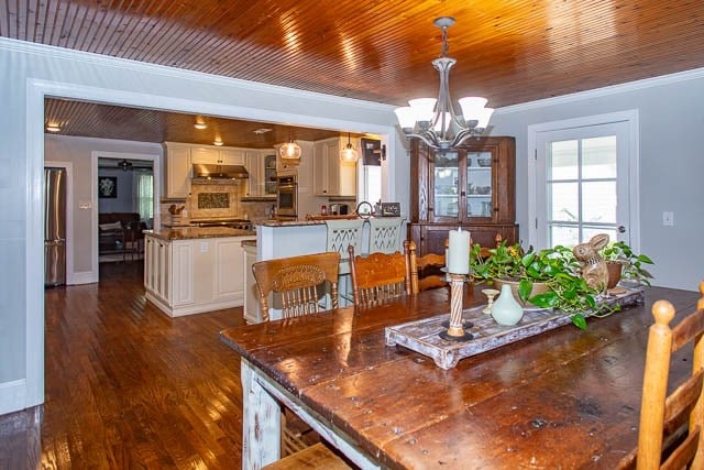
[[[331,286],[332,308],[336,308],[339,264],[340,254],[333,252],[279,258],[252,264],[252,273],[260,291],[263,319],[270,319],[268,295],[272,292],[280,294],[283,318],[318,313],[318,287],[324,282]]]

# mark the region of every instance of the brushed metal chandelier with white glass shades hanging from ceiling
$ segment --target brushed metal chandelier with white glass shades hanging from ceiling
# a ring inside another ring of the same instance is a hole
[[[457,62],[448,57],[448,28],[454,18],[442,17],[433,21],[442,30],[442,51],[432,66],[440,73],[438,99],[418,98],[408,107],[394,110],[407,138],[418,138],[435,149],[448,150],[460,145],[470,136],[481,135],[494,112],[486,108],[486,98],[466,97],[458,100],[462,114],[457,114],[450,99],[450,69]]]

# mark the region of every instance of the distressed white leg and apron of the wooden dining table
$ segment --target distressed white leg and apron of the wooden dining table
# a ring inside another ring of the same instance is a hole
[[[280,404],[308,423],[362,469],[380,469],[352,439],[242,358],[242,468],[258,470],[280,458]]]

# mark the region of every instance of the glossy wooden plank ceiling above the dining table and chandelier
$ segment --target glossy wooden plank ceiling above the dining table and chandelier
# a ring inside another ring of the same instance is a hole
[[[504,107],[704,66],[702,0],[0,0],[0,35],[392,105]]]

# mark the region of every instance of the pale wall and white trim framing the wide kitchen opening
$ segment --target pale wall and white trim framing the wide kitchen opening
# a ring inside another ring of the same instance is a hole
[[[42,403],[42,176],[45,96],[394,132],[388,106],[0,39],[0,413]],[[395,153],[389,141],[389,154]],[[389,165],[392,173],[393,161]]]

